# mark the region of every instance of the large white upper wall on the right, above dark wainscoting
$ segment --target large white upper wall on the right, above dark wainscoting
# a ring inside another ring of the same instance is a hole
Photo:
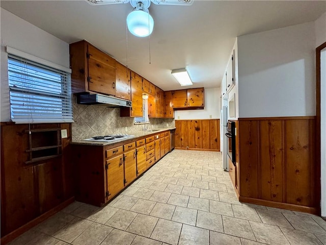
[[[238,37],[239,117],[315,115],[314,22]]]

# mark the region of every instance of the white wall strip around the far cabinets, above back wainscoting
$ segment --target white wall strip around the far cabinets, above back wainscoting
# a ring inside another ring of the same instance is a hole
[[[175,119],[209,119],[220,118],[220,88],[204,89],[204,109],[175,111]]]

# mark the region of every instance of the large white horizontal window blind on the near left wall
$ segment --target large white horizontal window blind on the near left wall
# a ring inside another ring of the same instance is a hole
[[[12,121],[73,122],[68,72],[8,54],[8,79]]]

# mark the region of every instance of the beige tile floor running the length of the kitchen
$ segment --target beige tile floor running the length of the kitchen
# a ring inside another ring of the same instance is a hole
[[[74,202],[10,244],[326,245],[326,222],[240,203],[221,153],[175,150],[105,207]]]

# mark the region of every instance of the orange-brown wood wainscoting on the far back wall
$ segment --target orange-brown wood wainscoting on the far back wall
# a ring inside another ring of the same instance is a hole
[[[220,119],[175,120],[175,149],[220,151]]]

